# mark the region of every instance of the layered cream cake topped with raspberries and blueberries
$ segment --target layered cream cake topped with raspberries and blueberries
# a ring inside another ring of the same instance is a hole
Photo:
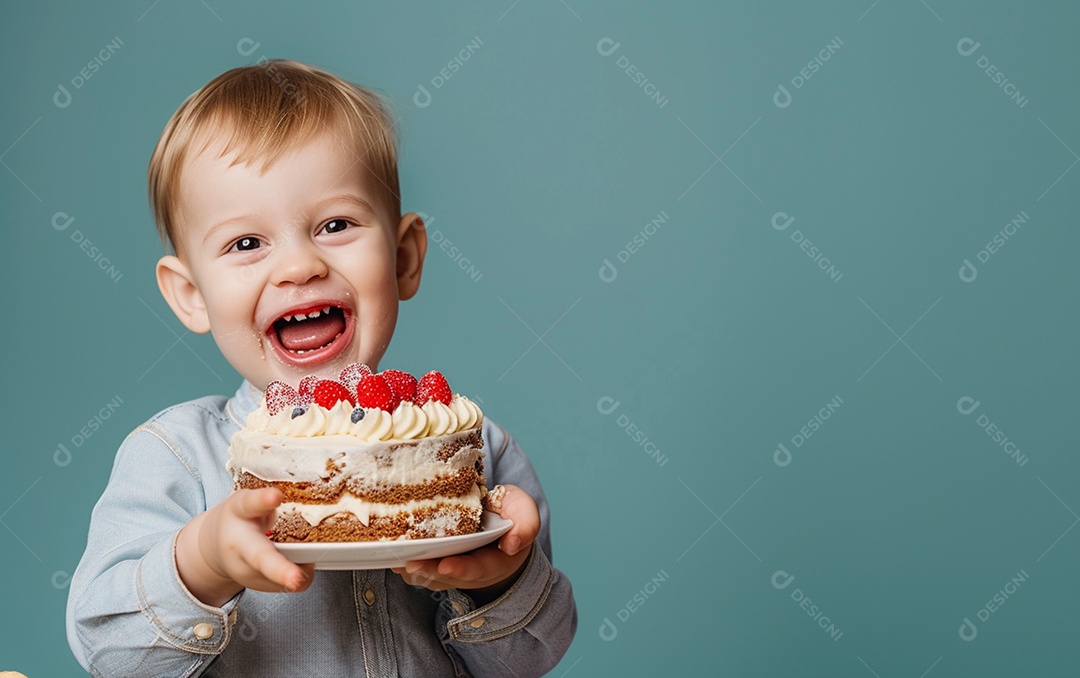
[[[475,403],[431,371],[417,380],[353,364],[337,380],[267,385],[233,434],[237,489],[274,487],[275,542],[355,542],[469,534],[484,478]]]

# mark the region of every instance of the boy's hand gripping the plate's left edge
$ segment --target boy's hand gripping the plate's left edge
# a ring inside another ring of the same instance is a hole
[[[266,531],[279,490],[237,490],[195,516],[176,539],[176,569],[195,597],[214,607],[244,588],[299,592],[311,584],[313,565],[296,565],[281,555]]]

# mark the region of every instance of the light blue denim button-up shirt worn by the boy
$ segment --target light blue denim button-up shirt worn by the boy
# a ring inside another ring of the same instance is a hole
[[[465,592],[410,586],[390,570],[315,573],[298,594],[244,591],[220,608],[195,599],[175,565],[176,534],[232,491],[229,437],[260,392],[171,407],[132,432],[90,523],[68,594],[67,635],[94,676],[534,676],[566,652],[577,608],[551,565],[548,502],[525,452],[484,421],[488,484],[540,507],[526,569],[477,608]]]

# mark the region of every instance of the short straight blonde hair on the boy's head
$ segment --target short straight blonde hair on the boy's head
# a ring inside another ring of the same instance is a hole
[[[327,132],[359,157],[377,179],[390,216],[401,216],[397,151],[387,103],[378,94],[324,70],[289,60],[260,60],[233,68],[189,96],[165,124],[147,173],[158,233],[177,249],[180,173],[190,158],[225,137],[221,157],[261,162]],[[201,143],[201,146],[195,148]]]

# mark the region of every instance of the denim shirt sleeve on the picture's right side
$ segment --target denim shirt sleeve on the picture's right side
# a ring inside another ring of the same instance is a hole
[[[578,625],[570,580],[551,565],[548,499],[517,442],[485,421],[488,485],[517,485],[537,502],[540,533],[517,581],[476,608],[467,592],[450,589],[436,614],[436,632],[473,676],[539,676],[563,659]],[[539,546],[539,548],[537,548]]]

